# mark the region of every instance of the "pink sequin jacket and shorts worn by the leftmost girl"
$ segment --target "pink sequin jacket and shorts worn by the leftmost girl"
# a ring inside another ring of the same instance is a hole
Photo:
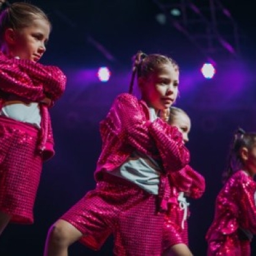
[[[58,67],[25,59],[8,58],[0,52],[0,108],[8,97],[52,105],[63,94],[66,77]],[[48,106],[40,104],[41,129],[0,116],[0,211],[12,222],[30,224],[43,160],[54,155],[54,138]]]

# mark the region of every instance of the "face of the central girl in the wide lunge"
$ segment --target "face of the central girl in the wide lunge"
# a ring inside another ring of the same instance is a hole
[[[156,111],[168,109],[178,95],[178,76],[178,69],[170,63],[162,65],[149,78],[140,78],[142,100]]]

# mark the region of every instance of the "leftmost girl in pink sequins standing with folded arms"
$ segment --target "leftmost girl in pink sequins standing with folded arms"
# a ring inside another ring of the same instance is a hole
[[[9,222],[34,222],[42,163],[54,155],[48,107],[63,94],[66,78],[58,67],[37,63],[50,34],[45,13],[28,3],[0,4],[2,233]]]

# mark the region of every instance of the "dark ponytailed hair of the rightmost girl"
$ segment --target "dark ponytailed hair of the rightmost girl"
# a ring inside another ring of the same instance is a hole
[[[228,163],[222,175],[222,182],[226,183],[227,180],[235,173],[239,171],[244,165],[244,162],[240,156],[240,149],[246,147],[251,149],[256,142],[256,133],[246,133],[243,129],[239,128],[233,134],[231,141]]]

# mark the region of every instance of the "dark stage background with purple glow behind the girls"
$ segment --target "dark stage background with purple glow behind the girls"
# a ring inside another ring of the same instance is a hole
[[[0,239],[0,255],[43,255],[49,226],[94,188],[93,173],[101,149],[98,123],[115,96],[127,91],[131,58],[138,50],[167,54],[180,65],[180,98],[176,105],[191,117],[187,144],[191,165],[205,176],[207,185],[200,200],[191,200],[189,243],[195,256],[206,255],[204,236],[222,186],[231,135],[238,126],[256,130],[256,1],[192,1],[202,16],[187,8],[188,23],[183,23],[184,16],[172,17],[169,12],[173,4],[182,1],[29,2],[43,8],[52,21],[42,62],[58,65],[67,74],[67,91],[51,110],[56,156],[43,167],[35,224],[8,226]],[[215,6],[221,3],[221,7],[209,8],[211,2]],[[172,5],[166,7],[169,3]],[[225,9],[232,18],[222,16]],[[215,22],[211,19],[213,13]],[[165,24],[156,21],[158,14],[165,14]],[[210,28],[209,34],[206,28]],[[229,43],[233,52],[223,42]],[[209,59],[217,69],[213,80],[200,74],[200,67]],[[98,81],[100,66],[111,69],[107,83]],[[252,255],[256,255],[254,240],[251,246]],[[74,255],[112,255],[112,237],[99,252],[76,243],[70,247],[70,256]]]

